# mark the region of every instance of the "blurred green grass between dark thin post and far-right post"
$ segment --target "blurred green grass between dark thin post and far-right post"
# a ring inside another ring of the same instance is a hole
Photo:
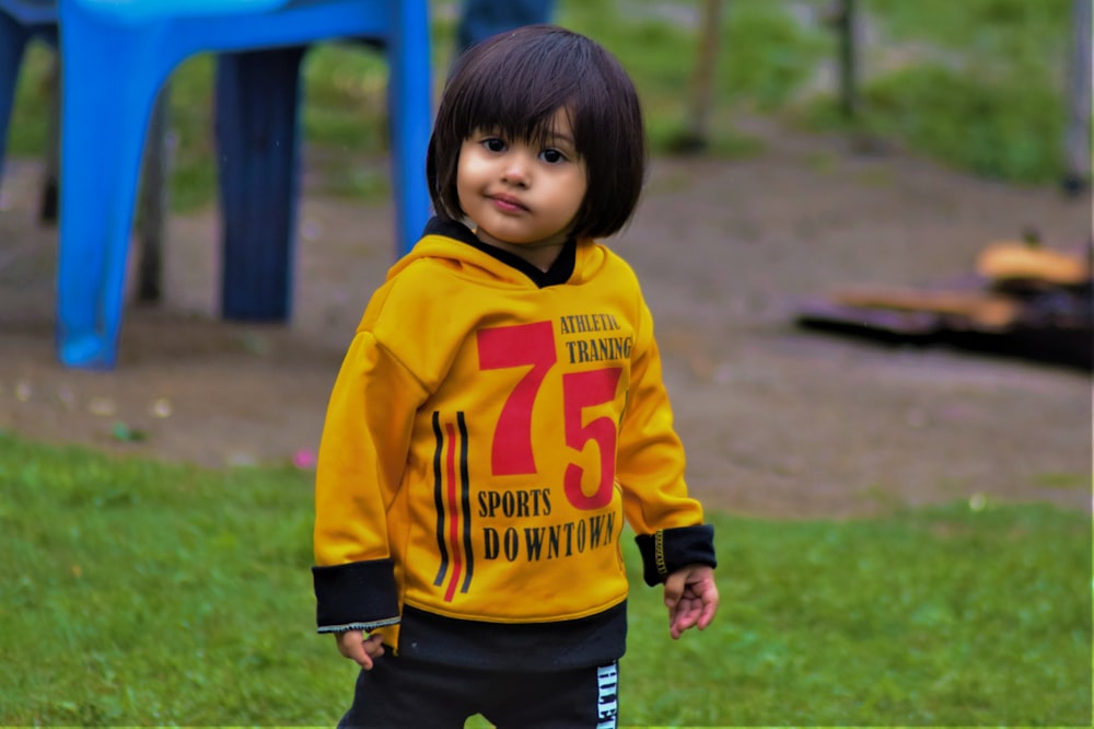
[[[860,118],[842,119],[831,97],[818,97],[798,112],[807,127],[900,140],[1011,183],[1062,178],[1070,0],[863,4],[887,39],[880,46],[917,50],[906,66],[868,78]]]

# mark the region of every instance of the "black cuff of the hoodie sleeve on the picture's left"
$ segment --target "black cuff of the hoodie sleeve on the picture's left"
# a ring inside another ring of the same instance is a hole
[[[312,567],[319,633],[372,630],[399,622],[391,559]]]

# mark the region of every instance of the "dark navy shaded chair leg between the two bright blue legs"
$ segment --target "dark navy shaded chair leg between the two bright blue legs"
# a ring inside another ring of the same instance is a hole
[[[225,319],[286,321],[292,311],[304,51],[277,48],[218,58]]]

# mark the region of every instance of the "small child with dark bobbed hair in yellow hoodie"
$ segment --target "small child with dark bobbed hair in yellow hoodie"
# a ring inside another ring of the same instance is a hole
[[[372,297],[319,449],[319,632],[364,669],[341,726],[615,727],[624,517],[672,637],[713,618],[650,311],[593,240],[644,166],[635,89],[589,38],[526,26],[457,61],[437,217]]]

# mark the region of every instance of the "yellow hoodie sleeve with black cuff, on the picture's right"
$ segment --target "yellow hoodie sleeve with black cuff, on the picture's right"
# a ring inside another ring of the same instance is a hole
[[[702,523],[702,506],[687,494],[684,447],[673,428],[653,317],[644,302],[635,339],[616,477],[627,521],[637,532],[644,580],[653,586],[685,565],[714,567],[714,530]]]

